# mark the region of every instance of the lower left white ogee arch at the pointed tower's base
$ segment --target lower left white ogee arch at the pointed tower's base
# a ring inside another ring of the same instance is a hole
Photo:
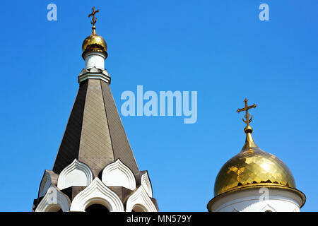
[[[60,209],[63,212],[67,212],[69,211],[70,204],[69,197],[61,193],[56,186],[51,185],[35,209],[35,212],[57,212]]]

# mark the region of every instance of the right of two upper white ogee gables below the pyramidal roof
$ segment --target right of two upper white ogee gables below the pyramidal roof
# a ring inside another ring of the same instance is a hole
[[[129,169],[119,159],[102,170],[102,182],[107,186],[123,186],[126,189],[136,189],[136,179]]]

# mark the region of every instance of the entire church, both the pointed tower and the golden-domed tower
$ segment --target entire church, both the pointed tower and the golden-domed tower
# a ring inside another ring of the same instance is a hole
[[[129,145],[105,69],[107,44],[96,33],[83,41],[85,67],[52,170],[45,170],[34,212],[158,212],[151,179],[140,170]],[[261,150],[252,138],[252,117],[245,99],[246,141],[220,169],[210,212],[299,212],[305,194],[296,189],[288,167]],[[208,186],[208,185],[206,185]],[[160,202],[159,202],[160,203]]]

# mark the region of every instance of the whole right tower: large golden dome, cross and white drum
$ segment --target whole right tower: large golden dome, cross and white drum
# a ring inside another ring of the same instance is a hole
[[[245,145],[220,169],[208,203],[211,212],[299,212],[306,201],[288,167],[254,143],[248,110],[256,106],[245,99],[245,107],[237,110],[246,112]]]

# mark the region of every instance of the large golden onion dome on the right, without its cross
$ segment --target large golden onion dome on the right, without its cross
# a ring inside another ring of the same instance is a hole
[[[241,152],[228,160],[218,172],[214,195],[260,185],[295,189],[295,180],[288,167],[254,143],[252,127],[245,127],[245,132],[247,136]]]

